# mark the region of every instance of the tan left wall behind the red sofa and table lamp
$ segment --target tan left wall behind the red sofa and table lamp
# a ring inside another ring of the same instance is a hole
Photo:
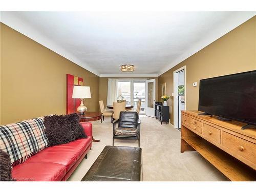
[[[66,74],[91,87],[98,111],[99,77],[1,23],[1,124],[66,113]]]

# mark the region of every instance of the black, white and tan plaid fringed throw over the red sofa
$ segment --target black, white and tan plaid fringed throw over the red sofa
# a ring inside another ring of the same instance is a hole
[[[13,166],[26,161],[48,145],[44,117],[0,126],[0,147]]]

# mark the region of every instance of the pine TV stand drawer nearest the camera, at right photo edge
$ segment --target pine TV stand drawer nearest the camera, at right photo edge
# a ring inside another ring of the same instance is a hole
[[[239,155],[256,164],[255,144],[224,131],[222,132],[221,142],[233,154]]]

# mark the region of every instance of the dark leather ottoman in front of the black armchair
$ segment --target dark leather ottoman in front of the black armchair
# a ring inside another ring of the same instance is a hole
[[[141,148],[105,146],[81,181],[141,181]]]

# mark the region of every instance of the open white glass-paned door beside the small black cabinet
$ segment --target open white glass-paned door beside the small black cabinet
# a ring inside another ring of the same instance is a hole
[[[146,80],[146,115],[155,117],[156,79]]]

